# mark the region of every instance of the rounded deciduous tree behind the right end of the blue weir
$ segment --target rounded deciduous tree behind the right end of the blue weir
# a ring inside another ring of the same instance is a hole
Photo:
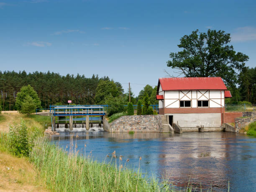
[[[117,85],[114,81],[104,81],[100,80],[97,85],[96,94],[95,94],[95,102],[97,104],[103,105],[105,104],[105,97],[113,96],[118,97],[122,94],[120,90],[118,90]]]

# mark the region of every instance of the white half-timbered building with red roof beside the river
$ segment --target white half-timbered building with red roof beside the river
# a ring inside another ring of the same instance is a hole
[[[160,78],[156,98],[159,114],[166,115],[173,126],[177,123],[184,131],[221,128],[225,111],[225,96],[230,92],[220,77]]]

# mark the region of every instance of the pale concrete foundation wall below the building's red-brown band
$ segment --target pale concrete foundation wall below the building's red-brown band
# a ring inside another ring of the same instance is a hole
[[[173,115],[173,122],[179,124],[184,131],[184,128],[197,129],[197,126],[204,125],[204,128],[220,128],[221,113],[180,113],[180,114],[165,114]]]

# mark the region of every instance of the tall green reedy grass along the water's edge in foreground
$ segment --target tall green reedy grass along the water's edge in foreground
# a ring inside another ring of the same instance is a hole
[[[139,169],[127,169],[129,160],[116,156],[115,151],[109,162],[100,163],[92,160],[90,154],[78,155],[76,146],[71,143],[63,150],[42,139],[36,142],[30,159],[51,191],[176,191],[167,179],[146,179]],[[68,148],[72,150],[66,151]],[[141,158],[138,164],[140,161]],[[191,187],[186,191],[191,191]]]

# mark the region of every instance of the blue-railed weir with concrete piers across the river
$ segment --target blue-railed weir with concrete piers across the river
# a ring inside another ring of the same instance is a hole
[[[56,127],[64,126],[71,131],[80,126],[89,130],[90,123],[103,123],[103,116],[106,115],[107,105],[77,105],[77,106],[50,106],[51,128],[55,131]],[[57,118],[57,120],[56,120]],[[57,121],[57,123],[56,123]],[[69,123],[67,123],[67,121]]]

